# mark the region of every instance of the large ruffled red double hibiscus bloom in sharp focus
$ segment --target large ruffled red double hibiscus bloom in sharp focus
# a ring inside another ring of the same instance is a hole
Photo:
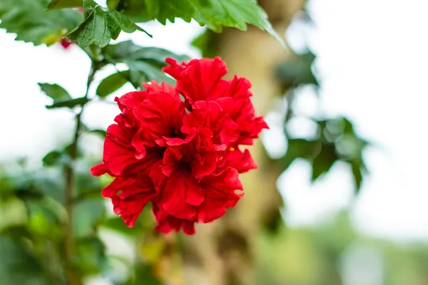
[[[223,79],[221,58],[166,62],[176,86],[152,81],[116,98],[121,114],[91,173],[114,177],[102,194],[128,227],[151,202],[158,231],[194,234],[195,222],[222,217],[243,197],[238,174],[257,165],[240,145],[268,127],[255,116],[250,82]]]

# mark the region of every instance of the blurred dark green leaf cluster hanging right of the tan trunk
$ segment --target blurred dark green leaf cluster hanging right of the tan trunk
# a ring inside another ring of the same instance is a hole
[[[292,102],[298,96],[295,89],[300,86],[312,85],[318,88],[319,83],[312,66],[315,55],[308,51],[300,55],[292,56],[285,63],[276,68],[277,80],[281,83],[284,97],[287,100],[287,112],[285,115],[284,128],[287,123],[295,117]],[[367,168],[362,159],[362,152],[368,142],[355,133],[350,120],[342,118],[315,119],[317,124],[317,136],[311,140],[302,138],[287,138],[288,146],[284,157],[279,160],[280,168],[287,170],[291,163],[297,158],[310,162],[312,167],[312,181],[317,180],[330,170],[337,161],[350,165],[354,177],[355,190],[358,192],[362,185]],[[285,131],[285,133],[287,133]]]

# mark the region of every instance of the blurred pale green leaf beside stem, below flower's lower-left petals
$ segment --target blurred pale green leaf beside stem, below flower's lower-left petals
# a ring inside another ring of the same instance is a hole
[[[96,224],[106,214],[102,199],[85,199],[76,204],[74,209],[73,232],[76,237],[85,237],[93,233]]]

